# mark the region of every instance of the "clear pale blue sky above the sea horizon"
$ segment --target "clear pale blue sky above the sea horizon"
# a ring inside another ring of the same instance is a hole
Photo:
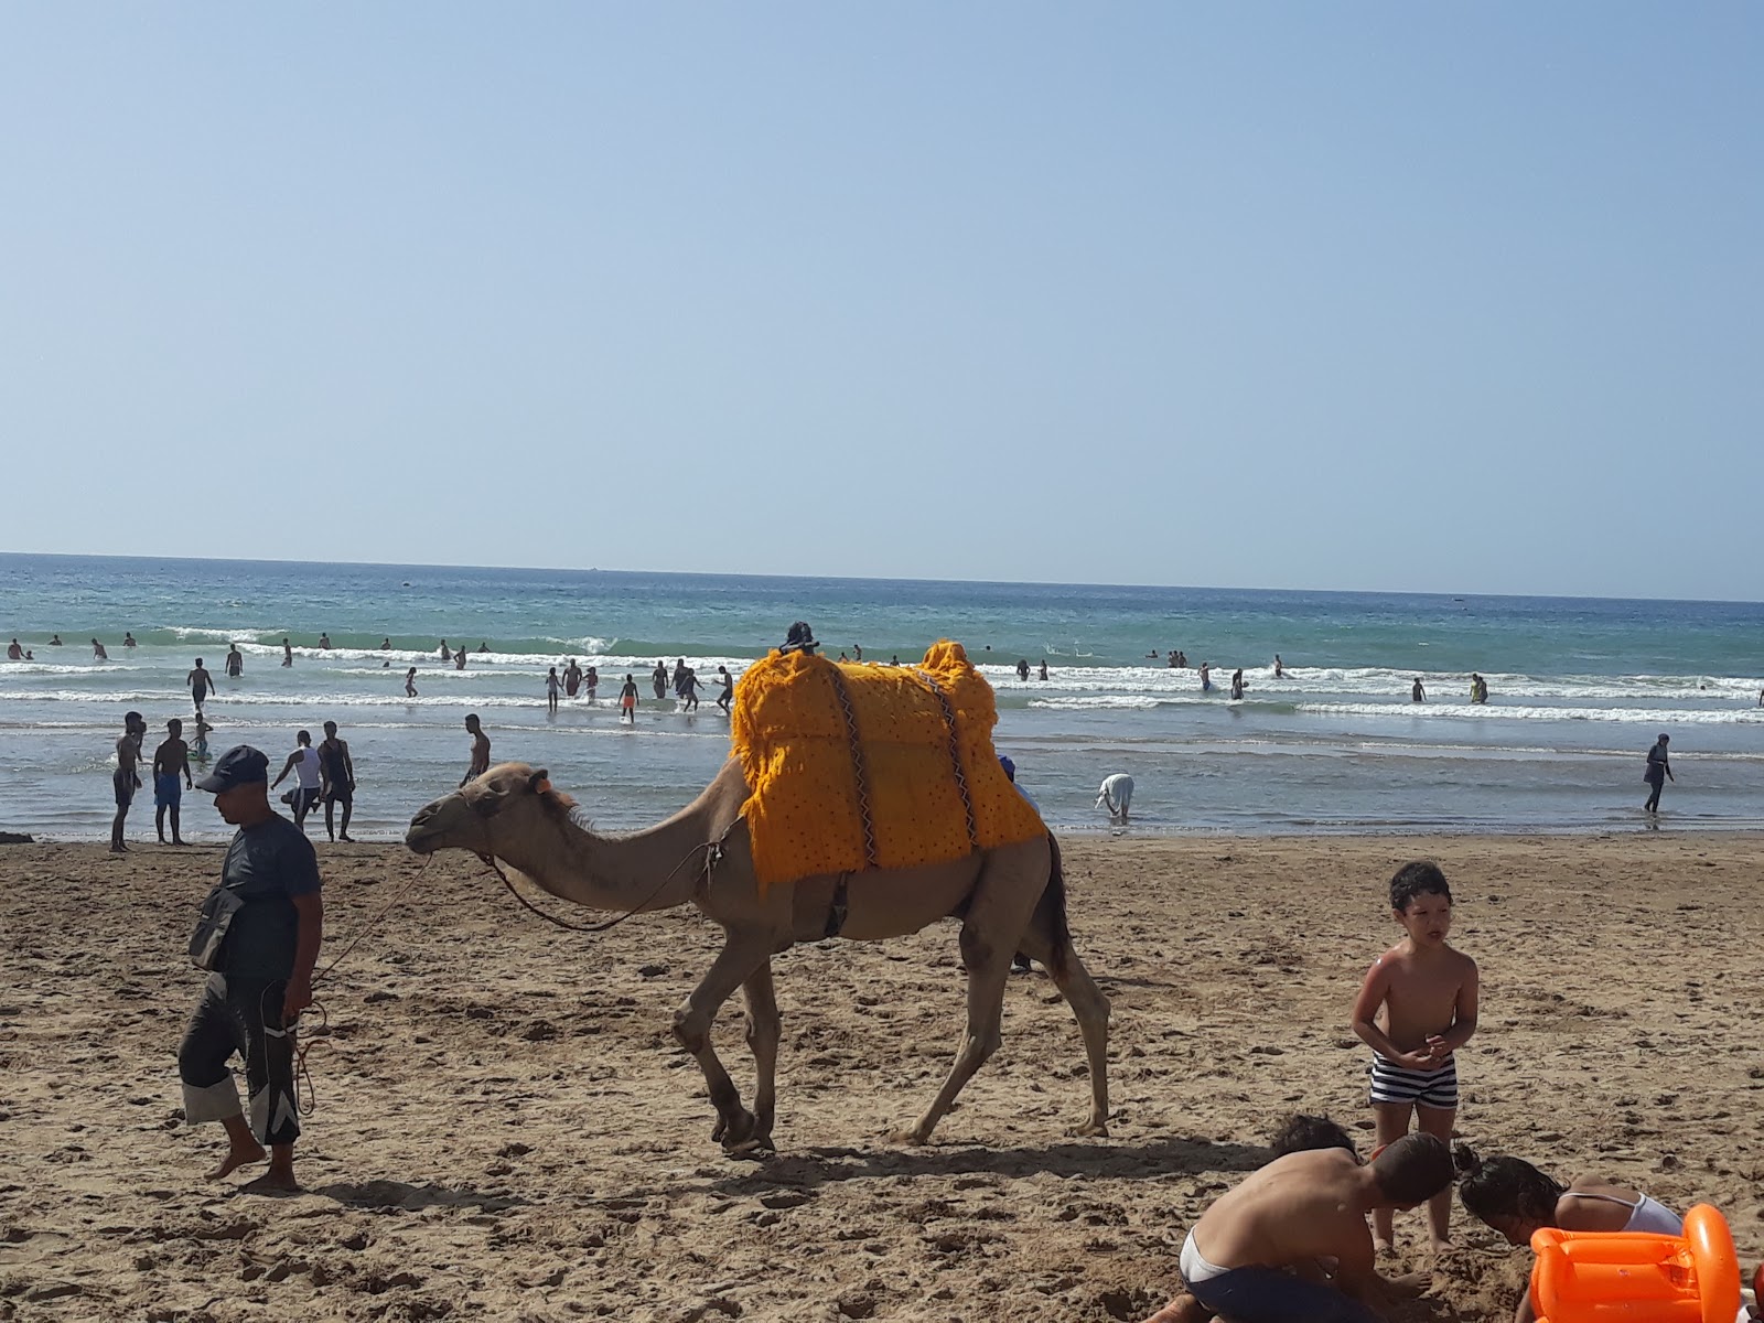
[[[1764,598],[1764,5],[0,11],[0,549]]]

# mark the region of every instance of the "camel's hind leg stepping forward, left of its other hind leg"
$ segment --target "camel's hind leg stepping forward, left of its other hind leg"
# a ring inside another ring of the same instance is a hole
[[[956,1102],[956,1094],[998,1051],[998,1023],[1004,1020],[1004,984],[1011,975],[1011,956],[1016,953],[1028,917],[1041,896],[1037,878],[1046,877],[1046,863],[1037,859],[1041,841],[1004,845],[991,850],[981,864],[979,880],[961,919],[961,963],[968,972],[968,1023],[949,1067],[944,1087],[937,1090],[931,1106],[905,1136],[907,1143],[924,1143],[937,1122]],[[1044,886],[1044,882],[1043,882]]]

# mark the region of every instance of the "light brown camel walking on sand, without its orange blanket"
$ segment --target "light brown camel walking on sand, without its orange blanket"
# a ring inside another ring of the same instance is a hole
[[[505,762],[422,808],[404,841],[418,854],[457,848],[503,861],[515,878],[589,908],[628,914],[691,903],[721,924],[723,949],[676,1011],[674,1037],[704,1071],[716,1108],[711,1140],[729,1152],[773,1148],[780,1037],[773,956],[834,933],[856,942],[905,937],[946,917],[961,919],[967,1032],[931,1106],[898,1138],[926,1143],[961,1087],[998,1050],[1004,988],[1018,951],[1046,965],[1083,1034],[1090,1117],[1074,1132],[1108,1134],[1110,1005],[1073,949],[1051,834],[953,863],[810,877],[760,894],[741,817],[746,799],[741,764],[730,759],[665,822],[632,836],[598,836],[577,822],[575,801],[550,789],[543,769]],[[753,1111],[741,1104],[711,1046],[711,1023],[736,988],[746,997]]]

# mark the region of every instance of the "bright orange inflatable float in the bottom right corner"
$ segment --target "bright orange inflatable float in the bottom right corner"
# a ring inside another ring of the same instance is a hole
[[[1734,1323],[1739,1314],[1734,1238],[1708,1203],[1685,1214],[1683,1237],[1545,1226],[1531,1251],[1538,1323]]]

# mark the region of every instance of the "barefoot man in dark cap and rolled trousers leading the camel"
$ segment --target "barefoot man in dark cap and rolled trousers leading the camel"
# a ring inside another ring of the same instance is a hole
[[[183,1118],[226,1129],[228,1154],[210,1180],[268,1155],[268,1173],[245,1189],[293,1191],[295,1020],[312,1004],[325,907],[312,843],[270,808],[268,781],[268,757],[238,744],[196,783],[238,831],[191,937],[191,960],[208,983],[178,1044],[178,1076]],[[228,1069],[235,1051],[245,1058],[249,1124]]]

